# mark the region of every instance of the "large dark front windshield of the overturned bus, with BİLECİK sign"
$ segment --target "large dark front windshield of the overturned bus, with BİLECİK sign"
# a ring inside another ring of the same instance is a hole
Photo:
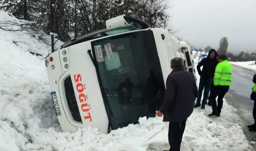
[[[91,44],[103,94],[113,112],[111,128],[154,116],[165,86],[152,31],[126,33]]]

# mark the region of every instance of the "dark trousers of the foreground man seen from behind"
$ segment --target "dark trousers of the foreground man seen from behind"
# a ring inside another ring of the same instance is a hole
[[[179,122],[169,122],[168,141],[169,151],[180,151],[183,133],[186,127],[186,120]]]

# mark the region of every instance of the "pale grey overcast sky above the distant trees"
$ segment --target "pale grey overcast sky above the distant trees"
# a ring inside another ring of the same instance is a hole
[[[175,0],[169,13],[175,34],[197,48],[217,49],[226,36],[228,51],[256,51],[256,0]]]

